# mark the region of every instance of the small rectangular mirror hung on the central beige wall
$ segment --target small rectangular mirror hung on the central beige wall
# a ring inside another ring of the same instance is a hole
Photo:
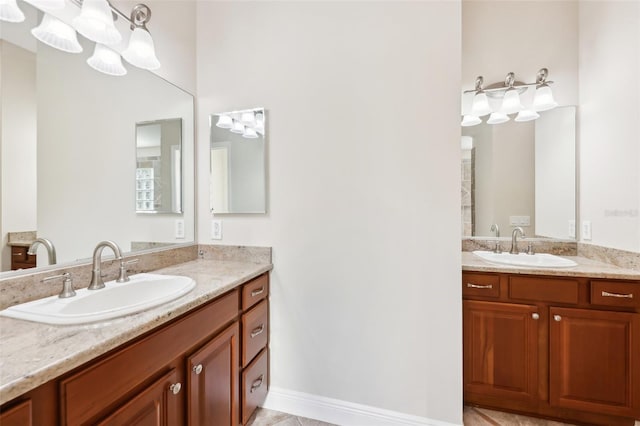
[[[209,121],[211,212],[265,213],[264,108],[213,114]]]

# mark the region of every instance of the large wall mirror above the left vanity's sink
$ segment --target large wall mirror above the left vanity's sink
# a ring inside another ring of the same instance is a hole
[[[50,240],[59,265],[90,258],[103,240],[123,252],[195,241],[193,96],[127,63],[122,77],[92,69],[95,43],[82,36],[81,53],[38,42],[30,31],[42,12],[18,4],[25,21],[0,28],[0,270],[11,269],[9,233]],[[182,121],[182,191],[171,197],[182,201],[162,208],[182,213],[136,214],[136,123],[166,119]],[[37,265],[48,265],[42,245]]]

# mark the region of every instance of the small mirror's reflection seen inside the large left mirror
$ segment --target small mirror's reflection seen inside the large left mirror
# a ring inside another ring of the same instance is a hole
[[[136,212],[182,213],[182,119],[136,123]]]

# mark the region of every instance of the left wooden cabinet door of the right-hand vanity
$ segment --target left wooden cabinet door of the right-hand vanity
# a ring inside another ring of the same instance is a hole
[[[463,302],[466,402],[505,407],[515,402],[520,409],[535,406],[539,318],[536,306]]]

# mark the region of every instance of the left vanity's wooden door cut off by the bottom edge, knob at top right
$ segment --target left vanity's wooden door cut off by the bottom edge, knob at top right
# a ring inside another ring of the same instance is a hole
[[[99,426],[174,426],[182,424],[179,406],[184,391],[173,369],[98,423]]]

